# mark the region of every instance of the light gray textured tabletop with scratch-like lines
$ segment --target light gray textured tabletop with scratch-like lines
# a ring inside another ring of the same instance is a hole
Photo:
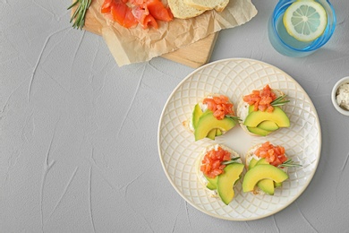
[[[164,58],[118,67],[104,40],[73,30],[70,1],[0,1],[1,232],[348,232],[349,117],[330,92],[349,75],[349,2],[312,56],[268,41],[277,1],[253,1],[251,22],[219,33],[211,61],[275,65],[307,91],[322,149],[310,186],[285,210],[253,221],[212,218],[168,182],[157,152],[166,99],[193,69]]]

